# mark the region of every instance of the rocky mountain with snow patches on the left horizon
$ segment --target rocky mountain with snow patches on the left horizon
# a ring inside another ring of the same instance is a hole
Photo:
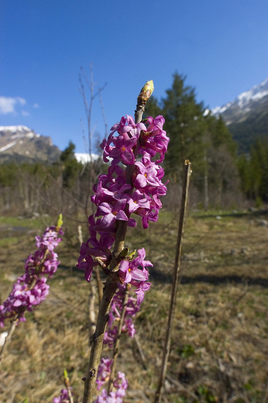
[[[0,126],[0,162],[15,156],[18,161],[54,162],[60,150],[51,138],[39,135],[26,126]]]

